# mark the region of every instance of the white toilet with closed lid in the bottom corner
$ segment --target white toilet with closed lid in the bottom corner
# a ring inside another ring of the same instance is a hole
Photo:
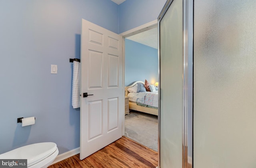
[[[59,150],[53,142],[42,142],[16,148],[4,154],[0,159],[27,159],[28,168],[47,168],[58,155]]]

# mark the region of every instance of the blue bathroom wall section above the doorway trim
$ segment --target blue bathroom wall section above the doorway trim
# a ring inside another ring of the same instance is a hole
[[[126,0],[119,5],[119,33],[156,20],[166,0]]]

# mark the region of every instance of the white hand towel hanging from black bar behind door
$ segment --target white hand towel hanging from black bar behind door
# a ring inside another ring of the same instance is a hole
[[[80,62],[73,62],[72,106],[80,107]]]

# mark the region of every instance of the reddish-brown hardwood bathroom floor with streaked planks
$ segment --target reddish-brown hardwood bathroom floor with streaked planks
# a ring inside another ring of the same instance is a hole
[[[79,154],[48,168],[156,168],[158,153],[122,137],[84,160]]]

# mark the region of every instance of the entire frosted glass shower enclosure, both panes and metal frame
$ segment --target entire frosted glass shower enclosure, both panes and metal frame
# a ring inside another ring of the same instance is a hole
[[[256,168],[256,1],[167,0],[160,168]]]

